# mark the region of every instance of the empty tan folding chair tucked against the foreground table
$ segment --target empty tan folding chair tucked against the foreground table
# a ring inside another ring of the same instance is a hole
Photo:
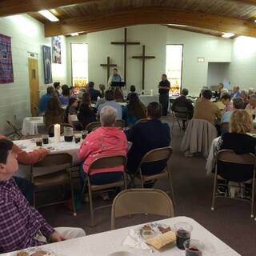
[[[170,197],[162,190],[123,190],[112,204],[111,230],[115,229],[115,218],[132,214],[155,214],[172,218],[174,206]]]

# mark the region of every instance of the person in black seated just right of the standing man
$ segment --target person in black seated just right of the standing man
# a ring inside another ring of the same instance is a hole
[[[186,107],[186,112],[188,113],[188,118],[191,119],[193,118],[193,112],[194,112],[194,106],[192,105],[192,102],[186,98],[186,96],[189,94],[189,90],[187,89],[182,89],[182,95],[179,96],[178,98],[174,99],[174,102],[171,106],[171,110],[174,112],[178,112],[177,106],[182,106]],[[185,122],[186,120],[182,120],[182,128],[185,130]]]

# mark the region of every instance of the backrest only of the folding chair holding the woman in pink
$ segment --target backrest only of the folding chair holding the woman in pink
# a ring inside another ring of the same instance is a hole
[[[88,174],[95,169],[109,169],[116,166],[124,166],[126,168],[126,156],[124,154],[106,155],[95,159],[90,163]]]

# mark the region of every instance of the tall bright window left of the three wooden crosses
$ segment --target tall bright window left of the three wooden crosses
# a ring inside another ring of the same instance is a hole
[[[88,82],[88,45],[71,43],[72,85],[85,86]]]

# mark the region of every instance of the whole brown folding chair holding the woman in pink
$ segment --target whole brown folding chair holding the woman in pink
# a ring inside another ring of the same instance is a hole
[[[107,170],[109,168],[113,168],[116,166],[123,166],[124,170],[126,170],[126,156],[125,155],[115,154],[115,155],[111,155],[111,156],[97,158],[94,160],[94,162],[91,162],[91,164],[89,166],[89,169],[87,172],[87,177],[86,177],[84,186],[82,188],[82,197],[81,198],[83,198],[85,190],[86,190],[86,186],[88,186],[89,201],[90,201],[90,225],[91,226],[94,226],[94,211],[101,209],[101,208],[111,206],[111,205],[107,205],[107,206],[99,206],[99,207],[94,208],[92,192],[100,191],[100,190],[110,190],[110,189],[114,189],[114,188],[122,187],[122,186],[124,186],[126,189],[126,173],[125,173],[125,171],[123,172],[123,180],[121,180],[119,182],[106,183],[104,185],[90,184],[90,173],[94,169],[106,169]]]

